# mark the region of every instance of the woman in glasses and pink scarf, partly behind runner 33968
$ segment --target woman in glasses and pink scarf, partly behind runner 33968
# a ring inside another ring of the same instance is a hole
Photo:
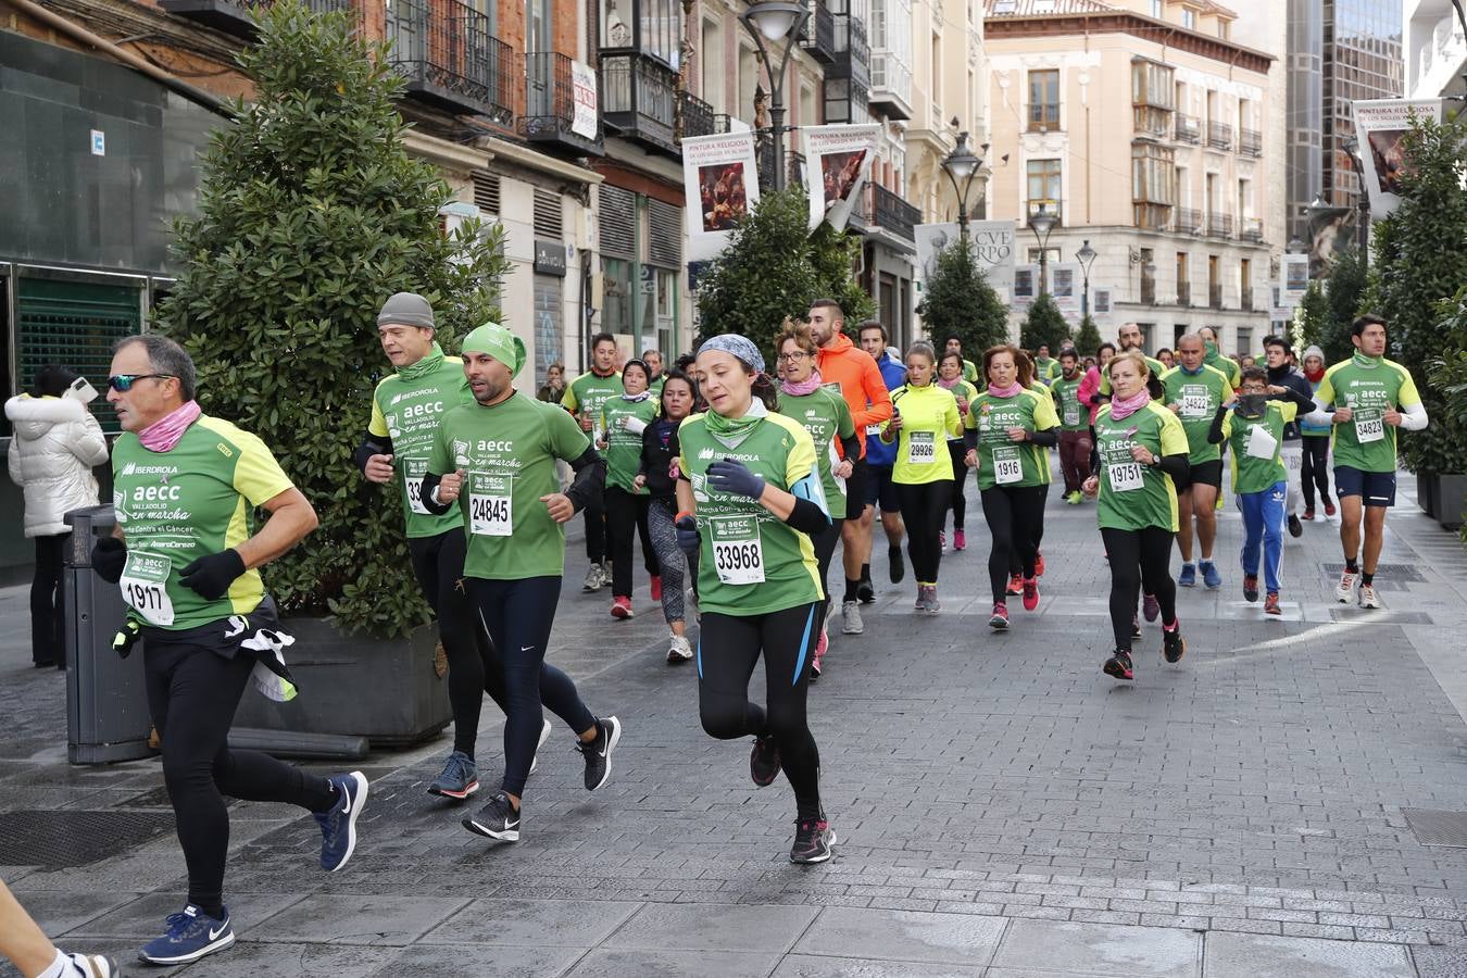
[[[861,441],[855,437],[855,422],[851,408],[839,390],[830,390],[816,369],[816,346],[810,327],[804,323],[785,320],[785,328],[775,337],[779,350],[780,393],[779,413],[794,418],[816,444],[816,462],[820,469],[820,484],[824,487],[826,507],[830,512],[830,526],[814,538],[816,562],[820,565],[820,591],[826,600],[816,617],[820,619],[820,638],[810,660],[810,677],[820,679],[824,670],[824,654],[830,644],[826,622],[830,614],[830,559],[841,541],[842,522],[846,518],[846,478],[854,471],[852,459],[861,457]],[[836,444],[841,453],[836,453]],[[860,503],[855,503],[860,506]]]

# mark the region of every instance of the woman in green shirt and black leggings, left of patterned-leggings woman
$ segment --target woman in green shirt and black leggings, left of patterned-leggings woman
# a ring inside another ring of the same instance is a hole
[[[628,372],[628,369],[631,372]],[[647,389],[651,371],[640,359],[622,365],[622,393],[601,403],[596,447],[606,452],[606,535],[612,553],[612,617],[632,616],[632,538],[640,532],[643,565],[651,578],[653,601],[662,601],[657,551],[647,528],[651,497],[634,485],[641,466],[641,434],[657,416],[657,399]]]

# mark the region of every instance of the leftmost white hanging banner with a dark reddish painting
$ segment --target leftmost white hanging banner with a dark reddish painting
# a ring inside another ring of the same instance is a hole
[[[758,201],[754,133],[725,132],[682,141],[682,189],[688,207],[688,261],[717,257],[729,232]],[[694,205],[697,201],[697,205]]]

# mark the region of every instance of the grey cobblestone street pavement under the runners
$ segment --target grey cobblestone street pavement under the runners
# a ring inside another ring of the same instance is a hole
[[[236,804],[241,943],[186,974],[1467,975],[1467,559],[1402,490],[1383,611],[1332,601],[1338,534],[1316,522],[1285,550],[1284,620],[1263,620],[1229,506],[1223,588],[1181,591],[1185,658],[1166,666],[1149,625],[1124,686],[1099,670],[1094,509],[1050,500],[1040,609],[1015,603],[995,636],[970,504],[942,614],[886,587],[864,635],[832,638],[811,718],[842,845],[814,868],[785,858],[788,786],[753,787],[748,743],[698,727],[695,667],[663,661],[641,570],[638,616],[612,622],[572,543],[552,658],[626,724],[610,782],[588,795],[557,732],[524,842],[493,848],[424,793],[447,738],[374,754],[336,875],[314,823]],[[0,821],[120,812],[136,834],[0,877],[65,946],[131,957],[183,893],[157,764],[65,764],[63,680],[26,669],[23,591],[0,594]],[[497,724],[486,710],[489,773]]]

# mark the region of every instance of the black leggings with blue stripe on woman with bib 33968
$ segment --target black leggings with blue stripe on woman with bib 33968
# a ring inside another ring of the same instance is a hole
[[[698,718],[709,736],[770,736],[795,789],[801,820],[820,818],[820,751],[805,718],[816,604],[767,614],[707,611],[698,636]],[[766,705],[748,701],[754,663],[764,654]]]

